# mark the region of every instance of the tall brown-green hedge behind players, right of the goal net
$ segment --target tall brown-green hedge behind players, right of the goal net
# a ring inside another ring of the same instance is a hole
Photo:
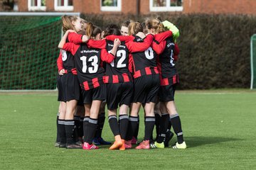
[[[180,30],[178,47],[179,89],[220,89],[250,87],[250,37],[256,33],[256,17],[245,15],[170,15],[162,20]],[[127,19],[143,22],[147,17],[133,15],[82,15],[105,28]]]

